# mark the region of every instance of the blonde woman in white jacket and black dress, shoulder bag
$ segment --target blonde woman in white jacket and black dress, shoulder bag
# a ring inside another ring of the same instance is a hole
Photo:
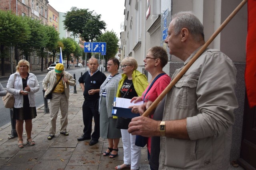
[[[10,75],[6,90],[14,94],[14,108],[12,118],[16,119],[16,131],[18,134],[18,147],[23,148],[23,123],[27,134],[27,143],[35,145],[31,138],[32,119],[36,117],[36,102],[34,93],[38,92],[39,84],[34,74],[29,72],[29,63],[20,60],[16,66],[16,72]]]

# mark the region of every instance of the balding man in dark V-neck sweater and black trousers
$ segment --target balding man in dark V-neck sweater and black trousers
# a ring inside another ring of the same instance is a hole
[[[84,104],[82,106],[84,133],[77,140],[84,141],[92,138],[89,145],[95,145],[100,138],[100,115],[98,111],[100,86],[106,80],[106,76],[99,71],[97,59],[90,58],[88,62],[90,70],[85,72],[78,80],[84,92]],[[93,133],[92,117],[94,117],[95,123]]]

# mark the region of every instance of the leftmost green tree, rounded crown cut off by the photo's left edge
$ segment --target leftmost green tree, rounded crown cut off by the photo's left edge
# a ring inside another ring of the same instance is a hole
[[[4,58],[6,52],[4,47],[11,47],[25,43],[30,38],[28,23],[21,16],[16,16],[10,11],[0,10],[0,57],[2,76],[5,76]]]

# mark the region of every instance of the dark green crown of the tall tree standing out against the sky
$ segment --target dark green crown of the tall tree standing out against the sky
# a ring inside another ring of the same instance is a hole
[[[101,15],[93,13],[89,9],[79,9],[72,7],[71,11],[65,14],[63,21],[65,29],[75,35],[83,37],[86,42],[93,41],[101,34],[101,30],[106,30],[106,23],[101,21]]]

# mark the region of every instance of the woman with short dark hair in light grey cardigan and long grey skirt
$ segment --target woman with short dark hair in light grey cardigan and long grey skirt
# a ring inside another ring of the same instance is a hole
[[[118,88],[118,82],[121,75],[118,73],[119,61],[116,58],[108,60],[107,69],[110,75],[100,86],[100,136],[108,139],[108,149],[103,153],[103,156],[114,158],[118,151],[118,143],[121,136],[120,129],[116,128],[116,118],[112,114],[112,104]]]

